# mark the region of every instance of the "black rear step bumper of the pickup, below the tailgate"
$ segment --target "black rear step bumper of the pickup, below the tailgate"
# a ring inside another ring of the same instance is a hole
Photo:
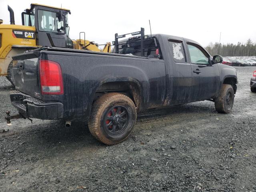
[[[62,103],[45,103],[17,90],[10,91],[12,105],[29,118],[53,120],[62,119],[64,108]]]

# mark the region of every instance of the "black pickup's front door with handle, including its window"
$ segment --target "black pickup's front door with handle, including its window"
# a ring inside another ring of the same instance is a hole
[[[187,42],[187,49],[192,68],[193,100],[214,98],[220,89],[218,65],[211,64],[210,55],[200,45]]]

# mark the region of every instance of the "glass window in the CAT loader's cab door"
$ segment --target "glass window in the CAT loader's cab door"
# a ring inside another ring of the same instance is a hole
[[[56,12],[38,10],[38,26],[40,31],[64,33],[63,20]]]

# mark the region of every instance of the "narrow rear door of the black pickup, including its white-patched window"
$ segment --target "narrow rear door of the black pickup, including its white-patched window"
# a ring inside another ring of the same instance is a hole
[[[168,38],[170,47],[170,104],[183,104],[190,102],[190,89],[192,71],[185,49],[184,40]]]

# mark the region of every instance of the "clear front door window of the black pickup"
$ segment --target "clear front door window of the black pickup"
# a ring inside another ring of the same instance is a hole
[[[204,53],[202,50],[200,50],[199,47],[192,44],[188,44],[188,52],[190,55],[191,62],[193,64],[202,64],[202,65],[209,64],[208,55]]]

